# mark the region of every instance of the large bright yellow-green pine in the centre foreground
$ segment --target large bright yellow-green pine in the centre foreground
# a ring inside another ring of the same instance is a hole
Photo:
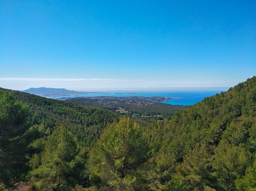
[[[129,118],[109,124],[90,153],[91,177],[100,177],[103,186],[116,190],[142,189],[139,167],[149,158],[149,150],[143,133]]]

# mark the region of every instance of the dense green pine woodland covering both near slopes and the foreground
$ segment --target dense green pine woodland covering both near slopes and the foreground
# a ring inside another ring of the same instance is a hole
[[[256,77],[150,124],[0,89],[0,190],[19,185],[256,190]]]

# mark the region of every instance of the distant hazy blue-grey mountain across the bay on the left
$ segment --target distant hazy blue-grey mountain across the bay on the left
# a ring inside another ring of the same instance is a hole
[[[48,87],[38,87],[38,88],[31,87],[30,89],[26,89],[21,92],[40,95],[43,97],[76,96],[76,95],[83,95],[83,94],[102,94],[100,92],[77,92],[73,90],[67,90],[64,88],[48,88]]]

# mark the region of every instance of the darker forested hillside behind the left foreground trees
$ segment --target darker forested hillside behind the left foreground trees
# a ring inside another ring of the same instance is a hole
[[[119,118],[118,114],[99,107],[86,107],[19,91],[14,93],[17,100],[29,106],[31,124],[43,123],[50,132],[63,125],[86,146],[99,138],[107,123]]]

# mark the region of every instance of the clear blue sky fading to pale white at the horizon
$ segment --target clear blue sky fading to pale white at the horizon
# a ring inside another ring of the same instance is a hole
[[[256,1],[0,1],[0,87],[230,87],[256,75]]]

